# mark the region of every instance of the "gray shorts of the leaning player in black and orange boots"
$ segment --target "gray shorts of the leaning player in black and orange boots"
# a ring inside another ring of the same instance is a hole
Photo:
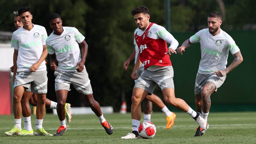
[[[55,91],[65,89],[70,91],[70,84],[83,95],[92,94],[92,87],[86,68],[82,72],[78,71],[59,71],[54,72],[55,75]]]

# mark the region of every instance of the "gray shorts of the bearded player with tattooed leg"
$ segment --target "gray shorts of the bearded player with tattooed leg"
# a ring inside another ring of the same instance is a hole
[[[214,74],[197,73],[196,74],[196,84],[195,84],[195,94],[196,95],[201,94],[201,91],[207,81],[212,82],[216,86],[216,89],[214,91],[214,92],[216,92],[217,89],[224,83],[226,77],[227,76],[217,77],[217,75],[215,73]]]

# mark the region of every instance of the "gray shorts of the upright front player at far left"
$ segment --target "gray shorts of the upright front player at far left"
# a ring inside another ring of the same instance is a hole
[[[26,90],[37,93],[47,93],[47,71],[30,72],[28,70],[17,70],[17,74],[14,80],[14,88],[17,86],[23,86]]]

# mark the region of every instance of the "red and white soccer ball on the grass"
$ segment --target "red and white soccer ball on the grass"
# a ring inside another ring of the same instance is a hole
[[[139,126],[139,135],[143,139],[152,139],[156,134],[156,126],[149,121],[143,122]]]

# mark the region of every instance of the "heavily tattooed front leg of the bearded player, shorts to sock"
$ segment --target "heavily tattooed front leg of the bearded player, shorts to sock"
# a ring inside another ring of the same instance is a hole
[[[204,88],[201,91],[202,97],[202,111],[204,113],[209,112],[211,107],[211,94],[215,91],[216,86],[211,82],[206,82]]]

